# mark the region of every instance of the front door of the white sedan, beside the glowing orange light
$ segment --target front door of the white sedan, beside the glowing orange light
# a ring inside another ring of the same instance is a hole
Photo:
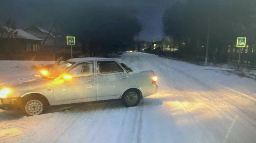
[[[68,103],[96,101],[94,61],[80,63],[68,71],[72,79],[65,81]]]

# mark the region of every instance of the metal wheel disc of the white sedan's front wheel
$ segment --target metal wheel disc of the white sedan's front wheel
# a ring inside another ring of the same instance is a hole
[[[38,115],[43,111],[43,104],[38,100],[28,101],[25,110],[29,115]]]

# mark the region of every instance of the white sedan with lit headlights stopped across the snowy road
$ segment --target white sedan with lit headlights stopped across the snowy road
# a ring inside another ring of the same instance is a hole
[[[32,116],[50,105],[111,99],[131,107],[158,88],[153,71],[139,71],[119,59],[75,58],[41,73],[42,78],[1,87],[0,109],[19,109]]]

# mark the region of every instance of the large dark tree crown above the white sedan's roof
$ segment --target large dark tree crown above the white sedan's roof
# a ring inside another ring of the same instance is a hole
[[[76,36],[84,52],[86,45],[89,45],[90,51],[100,47],[104,53],[124,49],[141,31],[133,7],[102,1],[80,0],[72,2],[72,6],[66,0],[60,5],[56,2],[44,3],[43,11],[49,13],[47,16],[50,16],[49,19],[52,17],[61,31]],[[53,8],[54,5],[58,7]]]

